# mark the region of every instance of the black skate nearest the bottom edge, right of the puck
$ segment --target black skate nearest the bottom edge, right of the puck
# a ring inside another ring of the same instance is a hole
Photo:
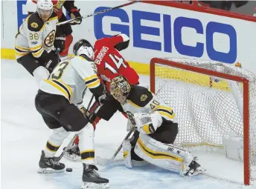
[[[86,188],[109,188],[109,179],[101,178],[96,172],[95,165],[83,164],[83,185],[82,189]]]

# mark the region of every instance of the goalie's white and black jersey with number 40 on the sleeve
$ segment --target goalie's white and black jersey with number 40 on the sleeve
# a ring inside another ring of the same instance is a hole
[[[158,111],[163,121],[176,123],[176,115],[172,108],[167,106],[156,95],[147,90],[146,87],[135,85],[131,88],[127,101],[122,105],[124,111],[127,113],[129,120],[134,120],[134,113],[153,113]],[[132,122],[135,125],[135,121]]]

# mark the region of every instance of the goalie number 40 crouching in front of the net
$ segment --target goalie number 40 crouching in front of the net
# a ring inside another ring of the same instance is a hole
[[[146,87],[132,86],[124,76],[112,79],[110,93],[121,103],[129,121],[135,127],[131,139],[123,142],[124,165],[132,168],[138,161],[194,176],[202,167],[188,151],[176,148],[173,142],[178,133],[176,115]]]

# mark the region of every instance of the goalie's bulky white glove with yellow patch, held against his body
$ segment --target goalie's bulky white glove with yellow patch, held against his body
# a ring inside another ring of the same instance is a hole
[[[135,129],[144,134],[154,133],[163,122],[157,111],[153,113],[135,113],[134,119],[136,122]]]

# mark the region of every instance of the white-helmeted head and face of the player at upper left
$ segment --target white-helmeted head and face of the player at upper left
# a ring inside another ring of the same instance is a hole
[[[38,0],[37,13],[43,21],[48,21],[51,13],[54,11],[54,5],[51,0]]]

